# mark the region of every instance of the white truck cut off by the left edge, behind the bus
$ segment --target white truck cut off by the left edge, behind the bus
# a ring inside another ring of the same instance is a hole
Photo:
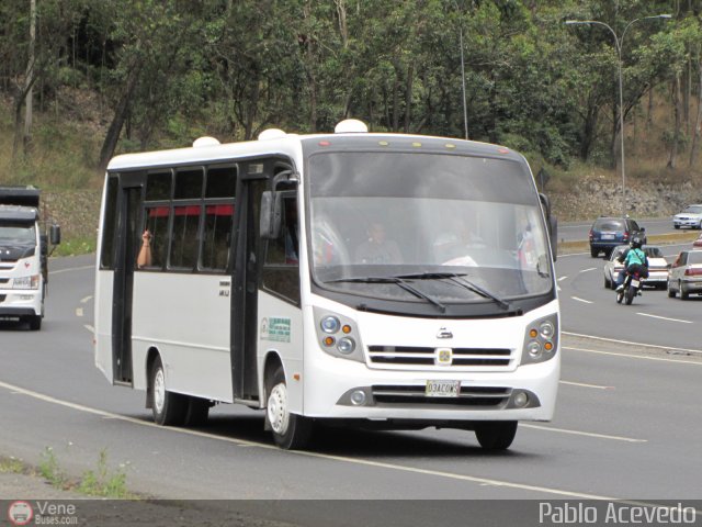
[[[60,227],[53,224],[42,234],[39,190],[0,187],[0,319],[42,328],[49,243],[60,243]]]

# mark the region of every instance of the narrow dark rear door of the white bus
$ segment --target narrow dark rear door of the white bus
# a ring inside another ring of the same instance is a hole
[[[140,233],[141,187],[137,178],[122,175],[115,233],[117,253],[114,266],[112,303],[112,372],[115,384],[132,385],[132,290]]]

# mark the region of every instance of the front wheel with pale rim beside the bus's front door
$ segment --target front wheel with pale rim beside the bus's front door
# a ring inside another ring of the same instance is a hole
[[[267,393],[265,418],[275,445],[285,450],[304,448],[312,437],[312,421],[290,413],[287,384],[282,366],[273,373]]]

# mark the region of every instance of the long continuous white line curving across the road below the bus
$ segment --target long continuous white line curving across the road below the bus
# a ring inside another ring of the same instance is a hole
[[[215,434],[208,434],[206,431],[199,431],[199,430],[192,430],[189,428],[177,428],[177,427],[162,427],[160,425],[157,425],[156,423],[149,423],[146,421],[140,421],[137,419],[136,417],[127,417],[124,415],[118,415],[118,414],[113,414],[111,412],[105,412],[103,410],[98,410],[98,408],[92,408],[90,406],[84,406],[82,404],[77,404],[77,403],[70,403],[68,401],[63,401],[60,399],[56,399],[56,397],[52,397],[49,395],[45,395],[43,393],[38,393],[38,392],[34,392],[32,390],[26,390],[24,388],[20,388],[20,386],[15,386],[13,384],[9,384],[7,382],[2,382],[0,381],[0,386],[9,390],[10,392],[16,392],[18,394],[22,394],[22,395],[26,395],[33,399],[37,399],[39,401],[44,401],[47,403],[52,403],[52,404],[58,404],[60,406],[65,406],[71,410],[77,410],[79,412],[86,412],[88,414],[93,414],[93,415],[99,415],[103,418],[110,418],[110,419],[118,419],[118,421],[124,421],[127,423],[132,423],[134,425],[139,425],[139,426],[147,426],[150,428],[157,428],[161,431],[165,433],[178,433],[178,434],[186,434],[190,436],[197,436],[197,437],[204,437],[207,439],[214,439],[217,441],[225,441],[225,442],[231,442],[234,445],[237,446],[245,446],[245,447],[259,447],[259,448],[263,448],[267,450],[280,450],[279,447],[274,446],[274,445],[267,445],[263,442],[256,442],[256,441],[247,441],[245,439],[235,439],[235,438],[229,438],[229,437],[223,437],[223,436],[217,436]],[[531,425],[530,425],[531,426]],[[540,428],[537,426],[534,426],[534,428]],[[555,430],[555,431],[561,431],[558,429],[551,429],[547,427],[542,427],[546,430]],[[472,483],[479,483],[479,484],[484,484],[484,485],[494,485],[494,486],[505,486],[507,489],[519,489],[522,491],[531,491],[531,492],[541,492],[544,494],[555,494],[555,495],[561,495],[561,496],[569,496],[569,497],[577,497],[580,500],[605,500],[605,501],[615,501],[618,498],[615,497],[611,497],[611,496],[601,496],[601,495],[597,495],[597,494],[586,494],[586,493],[580,493],[580,492],[573,492],[573,491],[566,491],[563,489],[555,489],[555,487],[547,487],[547,486],[539,486],[539,485],[528,485],[524,483],[514,483],[514,482],[509,482],[509,481],[501,481],[501,480],[492,480],[489,478],[478,478],[478,476],[474,476],[474,475],[465,475],[465,474],[457,474],[457,473],[453,473],[453,472],[445,472],[445,471],[440,471],[440,470],[430,470],[430,469],[420,469],[417,467],[408,467],[408,466],[404,466],[404,464],[395,464],[395,463],[384,463],[384,462],[380,462],[380,461],[371,461],[367,459],[353,459],[353,458],[347,458],[347,457],[342,457],[342,456],[331,456],[328,453],[319,453],[319,452],[307,452],[307,451],[303,451],[303,450],[287,450],[285,453],[288,455],[294,455],[294,456],[307,456],[310,458],[317,458],[317,459],[327,459],[327,460],[332,460],[332,461],[341,461],[344,463],[352,463],[352,464],[361,464],[361,466],[366,466],[366,467],[374,467],[374,468],[381,468],[381,469],[388,469],[388,470],[395,470],[395,471],[401,471],[401,472],[411,472],[415,474],[424,474],[424,475],[433,475],[433,476],[438,476],[438,478],[445,478],[445,479],[450,479],[450,480],[457,480],[457,481],[469,481]]]

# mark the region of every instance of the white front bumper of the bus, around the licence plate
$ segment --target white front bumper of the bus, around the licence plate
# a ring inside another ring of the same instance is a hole
[[[394,421],[466,427],[476,421],[551,421],[561,369],[559,352],[505,372],[398,372],[339,362],[322,361],[319,371],[307,372],[304,415],[388,426]]]

